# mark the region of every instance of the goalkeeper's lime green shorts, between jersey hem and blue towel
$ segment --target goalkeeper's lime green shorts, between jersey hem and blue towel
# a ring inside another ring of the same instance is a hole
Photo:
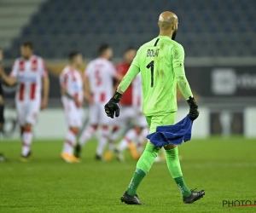
[[[176,112],[165,112],[157,115],[146,116],[149,127],[149,134],[156,131],[158,126],[173,125],[175,123]]]

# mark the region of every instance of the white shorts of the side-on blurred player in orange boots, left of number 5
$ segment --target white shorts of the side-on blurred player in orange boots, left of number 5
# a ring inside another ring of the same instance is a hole
[[[83,107],[77,107],[74,101],[63,101],[63,108],[66,116],[66,122],[68,127],[83,126],[84,109]]]

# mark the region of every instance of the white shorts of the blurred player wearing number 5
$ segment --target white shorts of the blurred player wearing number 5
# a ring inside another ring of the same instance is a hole
[[[104,105],[102,103],[94,103],[89,107],[89,124],[90,125],[109,125],[111,118],[109,118],[105,112]]]

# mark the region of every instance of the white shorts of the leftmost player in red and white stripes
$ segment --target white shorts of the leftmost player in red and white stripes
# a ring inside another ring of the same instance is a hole
[[[36,124],[40,111],[41,101],[16,101],[16,111],[20,126],[25,124]]]

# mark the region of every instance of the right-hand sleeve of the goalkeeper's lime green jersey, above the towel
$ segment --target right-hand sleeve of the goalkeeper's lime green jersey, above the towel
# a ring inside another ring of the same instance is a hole
[[[187,100],[189,99],[189,96],[193,95],[184,70],[184,56],[184,49],[182,45],[179,44],[177,47],[172,49],[172,66],[177,80],[177,86],[183,97]]]

